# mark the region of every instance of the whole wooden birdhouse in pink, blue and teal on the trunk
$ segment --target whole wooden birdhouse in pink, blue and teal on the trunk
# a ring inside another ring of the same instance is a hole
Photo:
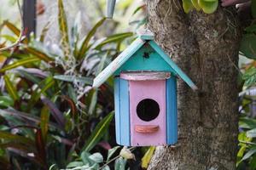
[[[194,82],[181,71],[145,31],[94,80],[97,88],[114,77],[116,140],[127,146],[177,142],[177,77],[190,88]]]

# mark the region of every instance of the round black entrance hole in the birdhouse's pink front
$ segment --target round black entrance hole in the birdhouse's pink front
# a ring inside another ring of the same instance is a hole
[[[137,116],[146,122],[154,120],[159,112],[159,105],[154,99],[143,99],[137,105]]]

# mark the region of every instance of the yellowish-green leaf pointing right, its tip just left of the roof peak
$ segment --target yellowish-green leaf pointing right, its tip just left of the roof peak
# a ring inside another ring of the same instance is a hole
[[[124,40],[127,37],[131,37],[132,35],[133,35],[132,32],[114,34],[113,36],[107,37],[106,40],[104,40],[99,45],[97,45],[96,49],[100,49],[100,48],[102,48],[102,46],[104,46],[108,43],[111,43],[111,42],[120,42],[120,41]]]

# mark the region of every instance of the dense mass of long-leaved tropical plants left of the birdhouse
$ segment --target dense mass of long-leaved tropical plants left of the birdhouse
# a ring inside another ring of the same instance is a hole
[[[79,21],[69,30],[61,0],[58,7],[60,44],[44,45],[45,26],[38,39],[22,39],[19,47],[1,52],[0,162],[9,169],[64,168],[101,140],[97,147],[111,148],[113,84],[98,90],[91,83],[132,33],[95,39],[103,18],[80,37]],[[1,47],[20,35],[9,21],[3,27],[15,36],[3,37]]]

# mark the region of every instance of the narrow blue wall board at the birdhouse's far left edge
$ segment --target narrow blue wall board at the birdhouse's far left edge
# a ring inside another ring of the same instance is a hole
[[[120,99],[119,99],[119,77],[114,78],[114,120],[115,120],[115,138],[116,143],[121,144],[120,140]]]

